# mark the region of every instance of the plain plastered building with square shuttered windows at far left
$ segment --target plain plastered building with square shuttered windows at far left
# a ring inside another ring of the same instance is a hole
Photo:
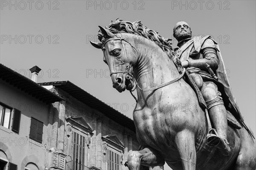
[[[62,101],[0,64],[0,170],[42,170],[51,103]]]

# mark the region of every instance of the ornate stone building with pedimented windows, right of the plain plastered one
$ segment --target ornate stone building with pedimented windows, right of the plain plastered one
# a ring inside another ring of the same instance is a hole
[[[139,149],[130,118],[70,81],[40,85],[64,98],[50,109],[48,169],[64,169],[65,158],[66,170],[128,170],[128,152]]]

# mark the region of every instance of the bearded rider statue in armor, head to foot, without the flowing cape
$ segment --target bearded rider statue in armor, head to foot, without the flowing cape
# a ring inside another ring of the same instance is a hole
[[[179,47],[175,49],[175,52],[182,67],[187,69],[201,90],[209,116],[216,129],[209,130],[207,144],[217,147],[223,155],[227,156],[230,153],[227,142],[227,110],[224,107],[221,92],[218,91],[218,86],[214,83],[218,81],[218,78],[213,74],[213,72],[216,73],[219,63],[222,62],[217,54],[218,45],[209,35],[192,39],[190,26],[183,21],[176,24],[173,35],[177,39]]]

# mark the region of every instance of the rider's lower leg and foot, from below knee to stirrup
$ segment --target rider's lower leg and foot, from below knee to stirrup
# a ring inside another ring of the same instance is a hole
[[[224,156],[228,156],[230,147],[227,142],[227,110],[224,104],[211,107],[209,115],[216,130],[209,130],[207,144],[217,147]]]

